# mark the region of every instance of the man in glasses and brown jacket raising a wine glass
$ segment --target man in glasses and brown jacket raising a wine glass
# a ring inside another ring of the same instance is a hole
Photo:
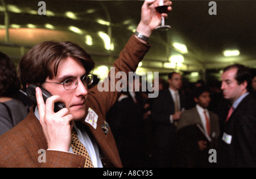
[[[170,1],[167,1],[171,5]],[[150,48],[147,43],[161,16],[158,2],[145,1],[137,32],[114,63],[115,74],[134,72]],[[171,6],[168,7],[168,11]],[[1,167],[121,167],[115,140],[105,115],[121,94],[98,91],[89,75],[94,63],[78,45],[46,41],[22,57],[19,74],[24,88],[40,85],[52,94],[44,103],[36,88],[37,106],[12,130],[0,137]],[[119,79],[106,80],[110,84]],[[65,107],[55,113],[55,102]],[[42,153],[43,152],[43,153]],[[40,157],[41,156],[41,157]]]

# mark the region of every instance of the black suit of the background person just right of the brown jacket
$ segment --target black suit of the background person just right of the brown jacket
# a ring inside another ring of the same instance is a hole
[[[107,122],[117,143],[124,167],[142,167],[145,154],[143,113],[129,93],[117,101],[107,114]]]

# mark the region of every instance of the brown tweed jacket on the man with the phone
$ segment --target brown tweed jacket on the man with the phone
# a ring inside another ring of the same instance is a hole
[[[134,35],[131,36],[114,63],[114,73],[134,72],[149,48],[150,45],[141,43]],[[110,85],[115,85],[118,81],[118,79],[110,81],[110,77],[107,80]],[[94,124],[94,128],[92,123],[81,121],[88,126],[90,133],[96,139],[104,157],[102,159],[104,166],[122,167],[112,132],[105,122],[105,115],[118,96],[117,91],[100,92],[97,85],[94,86],[88,92],[86,116],[90,118],[90,111],[93,110],[98,116],[97,123]],[[26,119],[0,136],[0,167],[84,167],[84,156],[51,150],[46,151],[46,163],[39,163],[39,149],[47,149],[47,142],[38,119],[31,111]]]

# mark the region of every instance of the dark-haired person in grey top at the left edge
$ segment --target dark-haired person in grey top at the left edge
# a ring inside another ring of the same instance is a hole
[[[13,61],[0,52],[0,135],[24,119],[28,110],[18,99],[20,81]]]

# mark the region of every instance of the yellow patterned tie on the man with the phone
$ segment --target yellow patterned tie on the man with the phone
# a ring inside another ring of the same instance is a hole
[[[81,141],[77,138],[76,130],[74,128],[72,128],[71,135],[71,147],[73,152],[76,153],[77,155],[85,156],[85,168],[93,168],[92,160],[90,160],[89,153],[87,152],[86,148],[81,143]]]

